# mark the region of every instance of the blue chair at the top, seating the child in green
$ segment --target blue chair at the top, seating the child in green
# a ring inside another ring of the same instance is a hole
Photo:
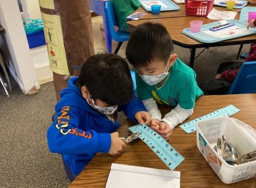
[[[117,45],[117,47],[115,49],[115,52],[114,52],[114,53],[117,53],[119,51],[121,45],[122,45],[122,42],[129,40],[130,33],[120,29],[120,27],[118,25],[115,10],[114,10],[114,8],[112,6],[112,3],[110,1],[106,2],[105,10],[106,10],[106,14],[107,14],[108,26],[109,26],[111,37],[112,37],[112,39],[114,39],[115,41],[118,42],[118,45]],[[118,27],[117,31],[115,31],[114,26]],[[108,52],[110,53],[111,52],[111,45],[112,45],[111,42],[110,42],[109,45],[110,45],[110,48],[108,48],[108,46],[107,46],[107,49],[110,49],[110,51],[108,50]]]

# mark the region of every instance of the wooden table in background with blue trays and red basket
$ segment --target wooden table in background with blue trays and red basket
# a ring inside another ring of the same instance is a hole
[[[169,34],[171,35],[173,43],[175,45],[178,45],[183,48],[191,49],[190,61],[189,61],[189,66],[191,68],[193,68],[194,57],[195,57],[197,48],[241,45],[238,51],[238,57],[239,57],[239,54],[244,44],[256,42],[255,35],[244,36],[244,37],[239,37],[239,38],[234,38],[234,39],[224,40],[224,41],[219,41],[214,43],[202,43],[193,38],[190,38],[187,35],[182,34],[183,29],[190,27],[190,24],[189,24],[190,21],[202,20],[203,24],[209,24],[216,20],[211,20],[211,19],[208,19],[207,17],[200,17],[200,16],[186,16],[185,5],[181,4],[179,6],[180,6],[180,10],[169,11],[166,13],[161,12],[160,15],[152,15],[150,13],[147,13],[147,15],[144,16],[142,19],[139,19],[137,21],[135,20],[128,21],[127,22],[128,27],[132,29],[138,26],[139,24],[145,23],[147,21],[154,21],[154,22],[159,22],[163,24],[167,28]],[[248,6],[255,6],[255,5],[248,5]],[[220,6],[214,6],[213,8],[217,10],[226,10],[226,7],[220,7]],[[235,16],[235,19],[239,19],[240,10],[241,9],[234,9],[234,11],[238,12],[238,14]],[[146,12],[146,10],[144,10],[144,12]]]

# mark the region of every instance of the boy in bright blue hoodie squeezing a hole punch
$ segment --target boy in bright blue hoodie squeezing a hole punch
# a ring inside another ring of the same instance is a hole
[[[90,57],[60,97],[47,140],[51,152],[62,154],[70,181],[97,152],[118,156],[126,148],[116,132],[117,110],[136,123],[150,123],[143,103],[133,96],[128,65],[116,54]]]

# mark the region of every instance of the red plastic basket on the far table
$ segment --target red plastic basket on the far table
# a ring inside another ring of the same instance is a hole
[[[207,16],[212,7],[214,0],[185,0],[186,15],[190,16]]]

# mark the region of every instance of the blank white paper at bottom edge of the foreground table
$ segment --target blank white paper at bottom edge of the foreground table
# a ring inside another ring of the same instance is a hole
[[[106,188],[179,188],[180,172],[112,163]]]

